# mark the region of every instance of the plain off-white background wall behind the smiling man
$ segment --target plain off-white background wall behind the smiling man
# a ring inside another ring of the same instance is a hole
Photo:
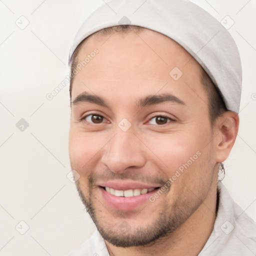
[[[219,21],[226,15],[234,21],[229,31],[243,66],[242,111],[223,182],[256,220],[256,2],[194,2]],[[0,0],[0,255],[63,255],[94,230],[66,177],[68,85],[51,100],[46,94],[68,75],[71,41],[100,4],[103,0]],[[16,127],[21,118],[29,124],[23,131]]]

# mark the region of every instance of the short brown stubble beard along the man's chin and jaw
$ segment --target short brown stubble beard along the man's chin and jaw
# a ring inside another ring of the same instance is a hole
[[[165,202],[162,204],[161,209],[155,209],[157,215],[150,224],[130,228],[125,228],[124,226],[124,228],[120,228],[120,226],[114,225],[113,222],[106,224],[104,218],[98,216],[98,211],[94,204],[97,199],[93,195],[93,188],[90,184],[87,198],[85,198],[78,180],[76,181],[76,188],[86,211],[89,213],[103,239],[118,247],[142,246],[161,240],[182,225],[202,202],[201,199],[191,202],[190,198],[182,202],[177,199],[171,206]],[[103,206],[100,204],[100,207]],[[107,214],[109,213],[108,211],[106,212]],[[110,213],[109,215],[112,217]],[[105,218],[107,219],[107,216]],[[118,219],[119,222],[121,223],[122,219]],[[125,221],[125,223],[127,222]]]

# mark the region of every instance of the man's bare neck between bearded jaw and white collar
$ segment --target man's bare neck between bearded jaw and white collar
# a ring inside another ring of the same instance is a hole
[[[144,246],[123,248],[105,241],[109,255],[198,255],[212,232],[216,218],[216,201],[217,185],[214,184],[201,205],[175,231]]]

